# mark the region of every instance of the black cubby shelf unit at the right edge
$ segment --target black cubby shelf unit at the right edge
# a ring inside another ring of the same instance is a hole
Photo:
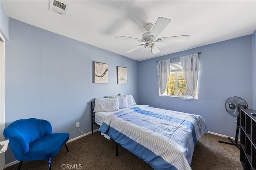
[[[256,170],[256,110],[240,110],[240,161],[244,170]]]

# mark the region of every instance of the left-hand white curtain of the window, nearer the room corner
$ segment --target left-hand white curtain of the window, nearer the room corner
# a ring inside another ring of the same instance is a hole
[[[159,93],[164,94],[170,75],[170,59],[158,61]]]

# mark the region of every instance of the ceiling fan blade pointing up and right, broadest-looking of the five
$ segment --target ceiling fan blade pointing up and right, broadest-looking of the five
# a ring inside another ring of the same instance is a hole
[[[154,37],[158,37],[158,35],[164,30],[164,28],[171,22],[172,20],[159,17],[152,28],[150,35],[153,35]],[[150,37],[149,35],[149,37]]]

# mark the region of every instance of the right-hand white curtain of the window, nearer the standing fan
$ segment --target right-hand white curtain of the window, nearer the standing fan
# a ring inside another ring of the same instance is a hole
[[[197,89],[197,80],[198,80],[198,54],[186,55],[184,57],[180,57],[180,63],[182,66],[182,71],[184,74],[184,79],[186,82],[186,86],[188,88],[188,92],[190,93],[188,96],[184,97],[184,100],[193,99],[196,96]]]

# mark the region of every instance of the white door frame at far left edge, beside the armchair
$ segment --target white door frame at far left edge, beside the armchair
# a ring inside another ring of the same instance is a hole
[[[5,39],[0,33],[0,141],[4,141],[3,131],[5,128],[5,108],[4,108],[4,42]],[[0,154],[0,169],[5,167],[5,152]]]

